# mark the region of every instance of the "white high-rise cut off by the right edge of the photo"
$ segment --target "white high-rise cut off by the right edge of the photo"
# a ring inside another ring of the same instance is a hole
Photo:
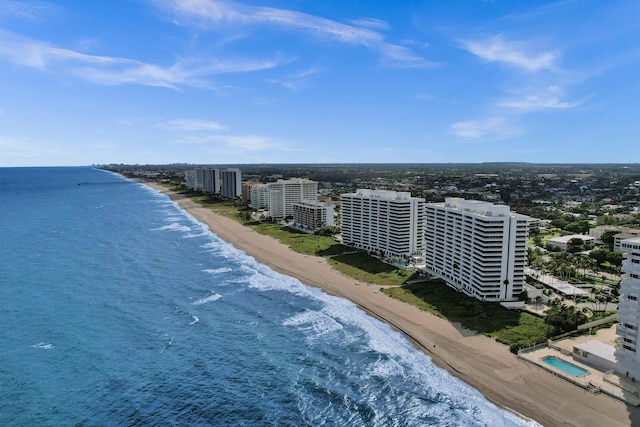
[[[622,281],[618,303],[618,326],[616,332],[620,342],[615,350],[618,371],[629,377],[640,379],[640,237],[623,240],[620,249]]]

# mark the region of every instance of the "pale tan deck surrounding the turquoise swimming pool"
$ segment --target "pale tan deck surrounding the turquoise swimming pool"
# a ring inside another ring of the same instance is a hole
[[[640,382],[632,381],[630,378],[612,373],[611,371],[605,372],[593,365],[574,359],[571,356],[574,345],[592,339],[594,339],[592,335],[575,339],[567,338],[554,342],[553,347],[545,346],[529,352],[520,352],[518,357],[593,393],[605,393],[629,405],[640,406]],[[598,339],[603,342],[608,342],[608,332],[604,331],[601,336],[598,336]],[[575,377],[561,369],[555,368],[543,361],[545,357],[550,356],[578,366],[586,370],[587,374]]]

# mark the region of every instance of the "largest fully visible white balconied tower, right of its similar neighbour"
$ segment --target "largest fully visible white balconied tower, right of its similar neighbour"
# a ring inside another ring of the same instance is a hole
[[[481,300],[519,298],[529,217],[509,206],[453,197],[425,209],[428,273]]]

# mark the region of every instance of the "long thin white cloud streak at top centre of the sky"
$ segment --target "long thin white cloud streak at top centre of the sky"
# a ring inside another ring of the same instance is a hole
[[[410,67],[430,67],[425,60],[409,49],[387,43],[373,28],[386,24],[375,19],[358,20],[358,25],[342,24],[330,19],[273,7],[245,6],[224,0],[156,0],[156,4],[196,25],[220,28],[224,25],[269,25],[275,28],[297,30],[325,40],[363,46],[379,52],[386,63]],[[365,28],[366,27],[366,28]]]

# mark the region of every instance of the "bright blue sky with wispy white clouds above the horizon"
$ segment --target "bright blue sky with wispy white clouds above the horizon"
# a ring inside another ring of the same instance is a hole
[[[639,160],[637,0],[0,2],[0,166]]]

